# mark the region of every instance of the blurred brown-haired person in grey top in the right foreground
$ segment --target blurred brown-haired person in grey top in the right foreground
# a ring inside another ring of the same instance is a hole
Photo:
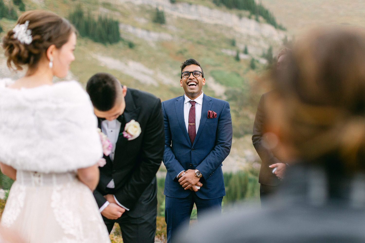
[[[180,242],[365,242],[365,32],[320,28],[273,75],[268,144],[289,163],[273,207],[239,207]]]

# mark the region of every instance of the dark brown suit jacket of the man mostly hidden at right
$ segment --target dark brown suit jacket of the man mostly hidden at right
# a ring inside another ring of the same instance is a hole
[[[265,99],[267,99],[266,97],[268,95],[270,95],[270,92],[263,94],[260,102],[258,102],[255,122],[253,124],[252,143],[262,161],[258,183],[276,186],[279,185],[281,181],[272,173],[273,168],[269,168],[269,165],[280,163],[280,161],[262,144],[262,135],[264,134],[265,120],[267,119],[265,115]]]

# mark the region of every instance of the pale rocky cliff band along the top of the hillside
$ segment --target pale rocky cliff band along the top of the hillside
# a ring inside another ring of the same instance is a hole
[[[234,13],[212,9],[203,5],[172,4],[169,0],[115,0],[111,2],[116,4],[150,5],[175,18],[197,20],[205,24],[217,25],[218,28],[228,27],[228,29],[231,29],[230,34],[237,39],[237,46],[243,48],[244,44],[242,42],[249,43],[250,53],[257,56],[261,55],[262,50],[267,49],[270,45],[280,46],[286,35],[285,31],[277,30],[269,24],[258,23],[247,17],[240,18]],[[130,31],[133,30],[130,28]],[[222,29],[222,31],[224,30]],[[164,36],[164,39],[166,38],[169,39],[168,36]]]

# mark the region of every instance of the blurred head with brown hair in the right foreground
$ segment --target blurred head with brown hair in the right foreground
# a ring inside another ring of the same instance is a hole
[[[269,145],[281,161],[328,161],[343,172],[364,170],[365,34],[318,29],[288,54],[273,75],[266,107]],[[340,169],[340,168],[339,168]]]

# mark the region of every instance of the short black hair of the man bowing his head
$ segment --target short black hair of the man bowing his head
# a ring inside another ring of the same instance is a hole
[[[118,95],[117,85],[120,85],[118,79],[111,74],[98,72],[93,75],[86,85],[92,105],[100,111],[112,109]]]

